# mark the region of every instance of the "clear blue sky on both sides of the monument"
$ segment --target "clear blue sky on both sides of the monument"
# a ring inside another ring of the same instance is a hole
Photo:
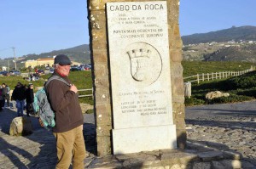
[[[180,0],[181,36],[256,26],[255,0]],[[0,58],[89,43],[85,0],[1,0]]]

